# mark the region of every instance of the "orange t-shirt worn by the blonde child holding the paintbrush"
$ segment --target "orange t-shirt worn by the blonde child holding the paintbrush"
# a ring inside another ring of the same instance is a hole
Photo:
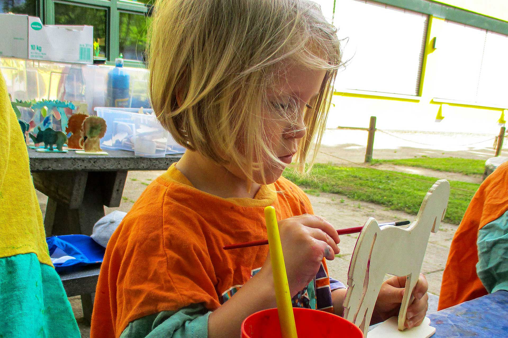
[[[133,320],[191,304],[218,308],[268,254],[267,245],[223,246],[266,239],[269,205],[277,219],[312,213],[305,193],[285,178],[261,186],[254,199],[223,199],[195,189],[171,166],[146,188],[108,242],[91,338],[118,337]],[[329,290],[324,260],[321,270],[315,286]]]

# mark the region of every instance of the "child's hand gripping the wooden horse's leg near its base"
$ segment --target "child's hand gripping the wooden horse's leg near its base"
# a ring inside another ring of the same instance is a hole
[[[400,303],[404,296],[406,277],[394,276],[383,283],[377,296],[374,312],[372,313],[371,324],[385,321],[390,317],[398,316]],[[413,289],[412,295],[415,299],[407,307],[406,321],[404,326],[411,328],[423,322],[427,313],[429,296],[427,295],[427,279],[420,274],[418,282]]]

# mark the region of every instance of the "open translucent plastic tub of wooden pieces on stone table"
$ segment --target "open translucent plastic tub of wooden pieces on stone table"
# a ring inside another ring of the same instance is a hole
[[[106,120],[104,149],[134,151],[136,156],[164,157],[185,148],[177,144],[162,127],[152,109],[96,107],[97,116]]]

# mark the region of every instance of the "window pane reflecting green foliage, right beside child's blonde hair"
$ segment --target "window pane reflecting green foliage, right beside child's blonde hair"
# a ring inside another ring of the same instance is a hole
[[[118,35],[120,53],[126,60],[145,60],[146,28],[150,18],[142,14],[120,12]]]

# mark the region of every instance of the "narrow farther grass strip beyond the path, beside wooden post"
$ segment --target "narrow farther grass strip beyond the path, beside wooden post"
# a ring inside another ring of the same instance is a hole
[[[461,159],[458,157],[434,158],[422,156],[416,159],[372,160],[372,164],[395,164],[399,166],[420,167],[460,174],[483,174],[485,160]]]

